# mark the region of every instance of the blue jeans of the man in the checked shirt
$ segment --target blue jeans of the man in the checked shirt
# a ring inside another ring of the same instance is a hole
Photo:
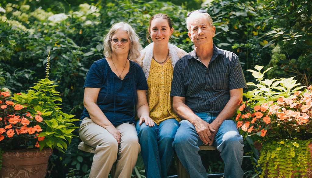
[[[212,113],[196,113],[208,123],[217,117]],[[213,145],[221,152],[221,157],[225,163],[224,176],[226,178],[242,178],[243,170],[241,164],[243,160],[243,137],[239,134],[236,123],[232,120],[225,120],[213,141]],[[207,178],[205,167],[198,154],[199,146],[203,143],[200,140],[195,127],[187,120],[180,122],[177,134],[174,137],[173,147],[177,156],[191,178]]]

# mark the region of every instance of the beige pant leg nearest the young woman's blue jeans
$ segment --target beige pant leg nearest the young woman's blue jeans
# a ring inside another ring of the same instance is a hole
[[[123,123],[116,127],[120,132],[120,145],[115,178],[131,178],[132,170],[141,150],[134,124]]]

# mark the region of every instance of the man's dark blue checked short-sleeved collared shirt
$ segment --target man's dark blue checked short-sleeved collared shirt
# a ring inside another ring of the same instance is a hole
[[[247,89],[247,85],[237,55],[213,45],[207,68],[195,50],[178,60],[170,96],[185,97],[194,113],[220,113],[230,100],[230,90],[239,88]]]

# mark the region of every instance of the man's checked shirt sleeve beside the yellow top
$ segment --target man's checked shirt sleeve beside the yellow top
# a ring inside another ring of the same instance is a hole
[[[182,73],[182,63],[178,60],[173,69],[173,79],[171,83],[170,96],[180,96],[185,97],[186,89],[183,84],[183,73]]]

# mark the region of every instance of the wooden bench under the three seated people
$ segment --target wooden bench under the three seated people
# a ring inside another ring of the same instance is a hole
[[[85,152],[89,152],[89,153],[94,153],[95,151],[95,148],[85,144],[84,142],[80,142],[80,144],[78,145],[78,149],[85,151]],[[217,147],[202,145],[202,146],[199,146],[199,149],[200,150],[216,150]],[[186,169],[184,168],[184,166],[182,165],[179,159],[177,159],[177,169],[178,169],[177,170],[178,178],[190,178],[188,171],[186,171]],[[116,171],[116,162],[114,163],[112,169],[110,170],[110,175],[112,177],[115,176],[115,171]]]

